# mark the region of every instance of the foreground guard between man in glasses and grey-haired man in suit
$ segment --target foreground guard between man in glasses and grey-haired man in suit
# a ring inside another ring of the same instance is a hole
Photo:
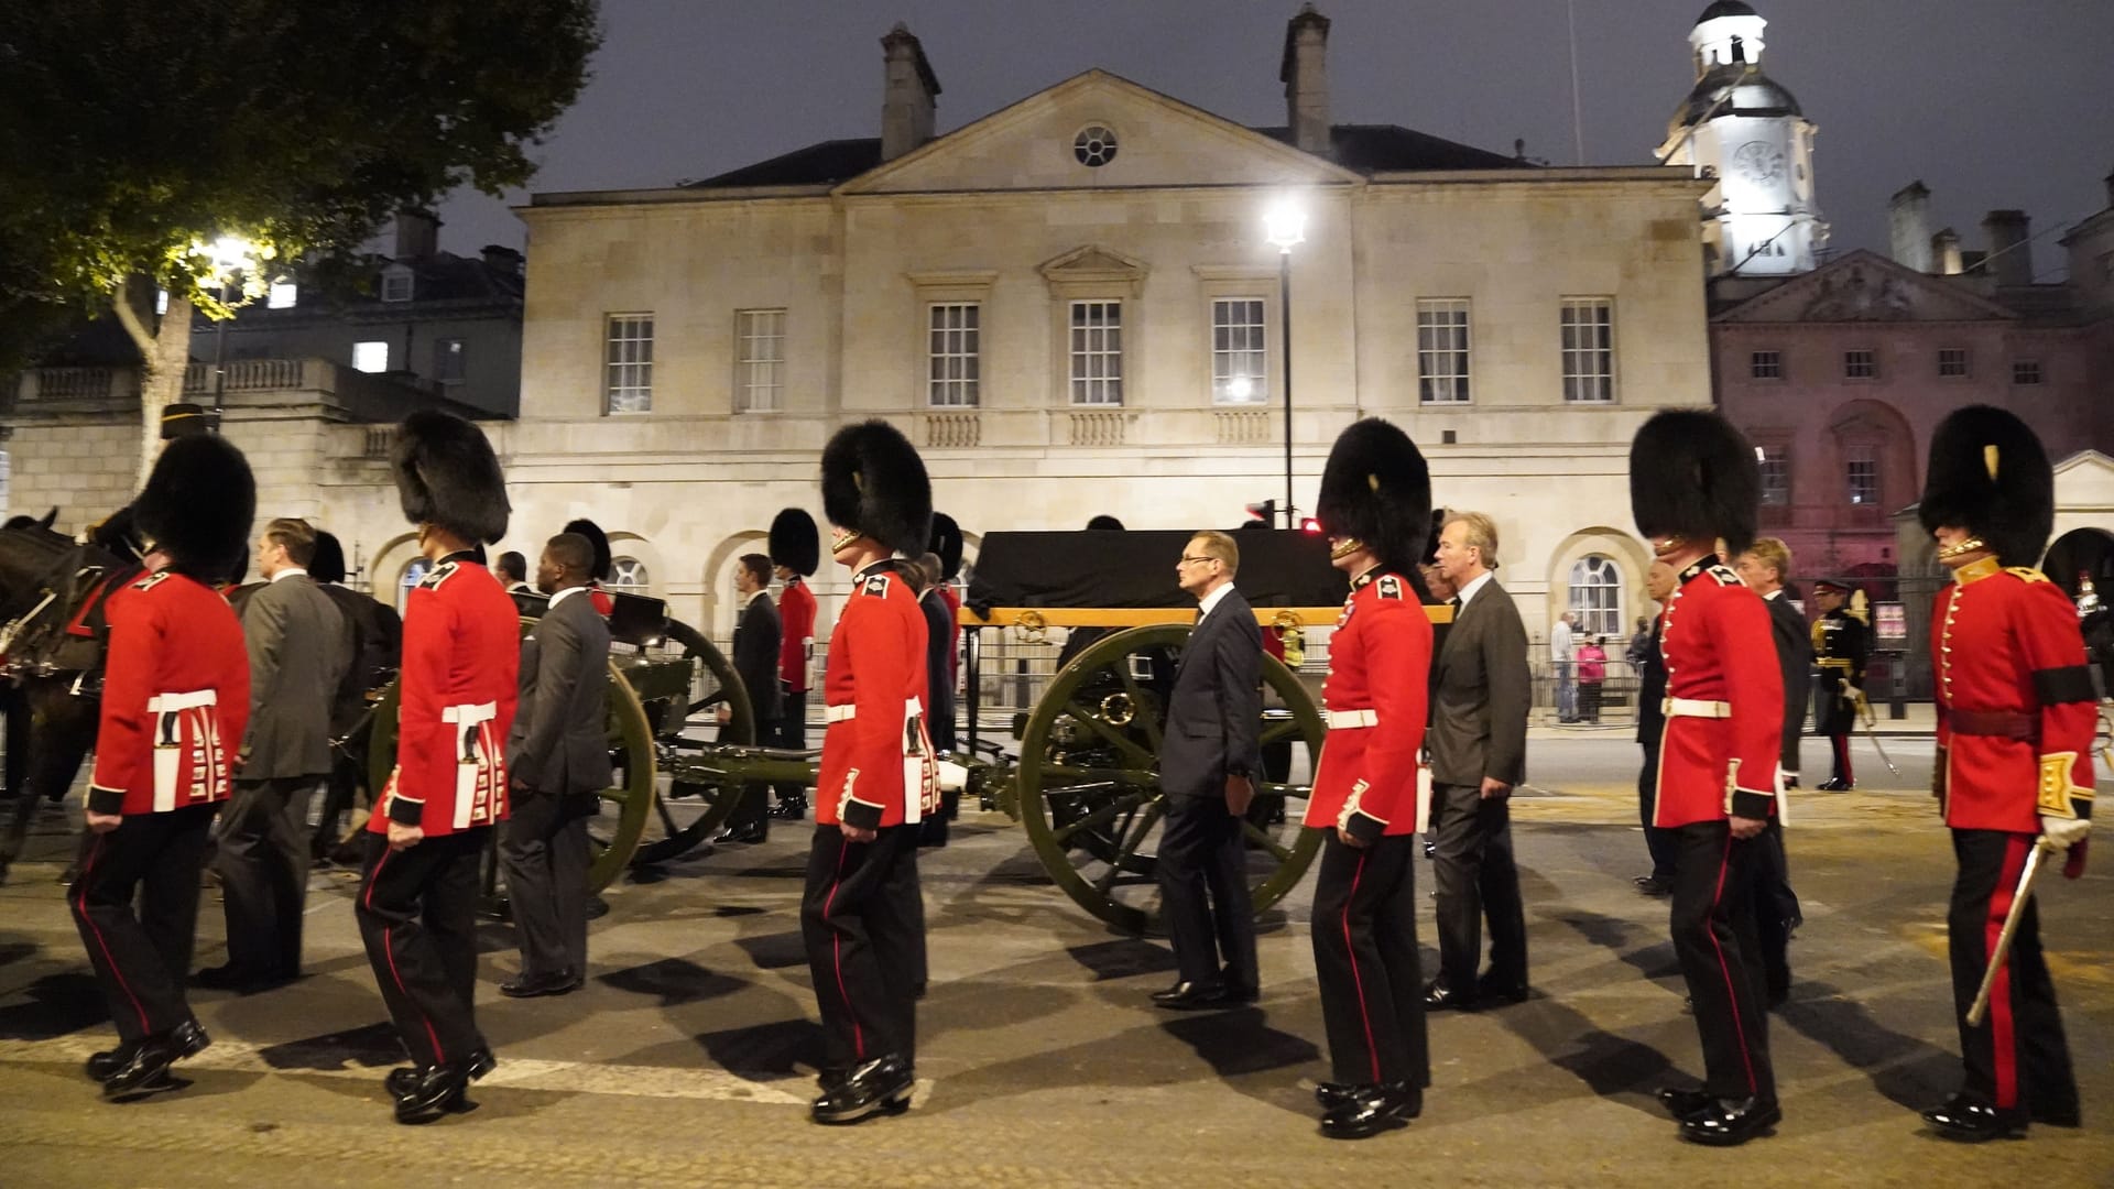
[[[1431,472],[1402,429],[1368,417],[1336,438],[1317,504],[1351,597],[1306,802],[1306,825],[1328,831],[1313,941],[1334,1081],[1315,1096],[1321,1134],[1353,1140],[1414,1119],[1431,1083],[1414,880],[1431,618],[1408,578],[1431,531]]]

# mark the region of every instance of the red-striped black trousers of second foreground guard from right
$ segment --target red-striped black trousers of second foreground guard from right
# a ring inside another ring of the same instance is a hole
[[[1674,829],[1672,935],[1704,1041],[1704,1092],[1776,1102],[1769,1068],[1767,988],[1755,937],[1755,840],[1729,821]]]

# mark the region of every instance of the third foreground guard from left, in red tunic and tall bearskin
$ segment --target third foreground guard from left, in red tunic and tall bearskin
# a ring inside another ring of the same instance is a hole
[[[886,421],[846,425],[822,451],[822,512],[852,594],[829,637],[822,768],[801,937],[822,1009],[818,1123],[856,1123],[909,1106],[924,899],[917,821],[939,808],[924,728],[926,620],[894,561],[924,552],[932,484]]]

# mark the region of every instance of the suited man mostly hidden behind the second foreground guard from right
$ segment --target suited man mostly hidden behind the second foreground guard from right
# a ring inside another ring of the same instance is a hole
[[[1805,726],[1805,673],[1814,664],[1805,616],[1784,594],[1791,573],[1791,548],[1776,537],[1759,537],[1733,565],[1769,607],[1769,635],[1776,639],[1776,664],[1784,673],[1784,732],[1778,772],[1782,787],[1799,787],[1799,734]],[[1769,1007],[1791,999],[1791,931],[1805,916],[1799,895],[1791,891],[1791,863],[1784,857],[1784,819],[1772,817],[1755,838],[1755,937],[1761,941],[1761,975]]]

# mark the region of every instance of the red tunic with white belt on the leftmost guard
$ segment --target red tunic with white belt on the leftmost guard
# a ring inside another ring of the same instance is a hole
[[[228,798],[249,724],[249,654],[211,586],[150,573],[110,597],[89,808],[169,812]]]

